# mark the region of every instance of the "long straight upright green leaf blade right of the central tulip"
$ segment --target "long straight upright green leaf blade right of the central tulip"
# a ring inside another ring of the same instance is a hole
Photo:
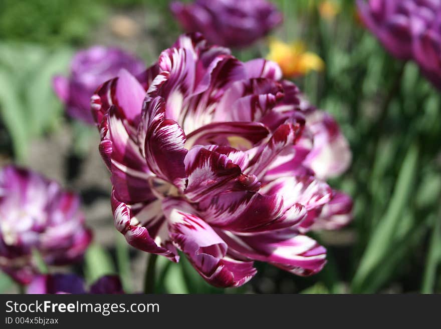
[[[352,290],[359,292],[367,276],[377,268],[384,254],[390,251],[394,232],[399,224],[401,214],[408,203],[415,179],[418,159],[418,148],[411,145],[402,163],[393,195],[384,217],[378,222],[369,239],[352,281]]]

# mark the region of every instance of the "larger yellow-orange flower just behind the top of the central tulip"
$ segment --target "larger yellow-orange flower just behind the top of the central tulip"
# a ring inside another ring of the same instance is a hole
[[[302,42],[285,44],[277,39],[270,39],[270,52],[267,59],[279,64],[287,78],[304,76],[309,71],[322,71],[323,60],[316,54],[307,52]]]

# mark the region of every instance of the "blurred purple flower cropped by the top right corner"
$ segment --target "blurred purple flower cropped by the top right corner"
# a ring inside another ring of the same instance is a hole
[[[441,1],[357,0],[360,17],[396,58],[415,60],[441,88]]]

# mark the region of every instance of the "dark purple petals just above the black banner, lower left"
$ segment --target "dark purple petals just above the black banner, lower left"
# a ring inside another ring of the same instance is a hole
[[[75,274],[46,274],[37,275],[27,286],[27,293],[87,293],[84,280]],[[104,275],[96,280],[89,293],[124,293],[121,281],[117,275]]]

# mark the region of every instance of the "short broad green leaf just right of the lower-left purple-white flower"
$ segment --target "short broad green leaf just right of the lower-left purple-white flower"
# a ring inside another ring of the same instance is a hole
[[[110,254],[101,246],[92,243],[84,256],[87,283],[93,283],[106,274],[115,274],[115,267]]]

